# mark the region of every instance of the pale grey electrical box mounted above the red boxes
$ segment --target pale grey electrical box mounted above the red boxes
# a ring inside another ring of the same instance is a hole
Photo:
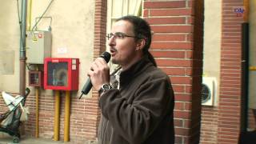
[[[51,56],[51,32],[27,31],[26,36],[26,62],[43,64]]]

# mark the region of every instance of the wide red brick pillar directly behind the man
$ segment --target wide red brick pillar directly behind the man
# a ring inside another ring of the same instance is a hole
[[[200,133],[202,8],[203,1],[144,2],[154,31],[150,52],[174,87],[176,143],[198,143]]]

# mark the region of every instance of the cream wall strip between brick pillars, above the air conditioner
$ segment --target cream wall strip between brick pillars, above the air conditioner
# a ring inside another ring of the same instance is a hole
[[[206,77],[217,79],[217,86],[220,77],[221,60],[221,31],[222,30],[222,1],[205,1],[205,21],[203,39],[203,74]],[[217,88],[217,98],[218,98]],[[215,103],[217,99],[215,98]]]

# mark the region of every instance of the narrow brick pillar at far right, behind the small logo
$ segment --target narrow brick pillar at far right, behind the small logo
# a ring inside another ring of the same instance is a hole
[[[237,143],[241,103],[241,23],[234,7],[239,0],[222,1],[221,79],[218,105],[218,143]]]

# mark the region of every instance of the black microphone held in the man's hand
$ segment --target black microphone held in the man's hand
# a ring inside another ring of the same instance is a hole
[[[105,51],[105,52],[102,53],[102,55],[99,56],[99,57],[100,57],[100,58],[104,58],[104,60],[105,60],[106,63],[107,63],[107,62],[110,61],[111,55],[110,55],[110,53],[108,53],[108,52]],[[86,84],[82,87],[82,91],[81,91],[82,94],[88,94],[92,86],[93,86],[93,85],[91,84],[90,78],[88,78],[87,81],[86,81]],[[80,95],[80,98],[82,97],[82,94]],[[79,98],[79,99],[80,99],[80,98]]]

